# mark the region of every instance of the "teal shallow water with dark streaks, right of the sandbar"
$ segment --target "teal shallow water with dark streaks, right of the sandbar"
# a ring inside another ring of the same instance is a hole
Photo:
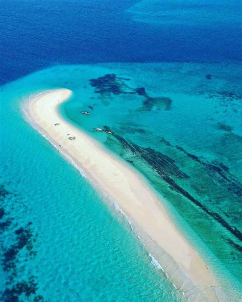
[[[241,291],[239,66],[106,64],[79,72],[83,86],[62,113],[146,175],[208,265]],[[83,116],[88,104],[95,110]],[[113,136],[92,130],[105,126]]]

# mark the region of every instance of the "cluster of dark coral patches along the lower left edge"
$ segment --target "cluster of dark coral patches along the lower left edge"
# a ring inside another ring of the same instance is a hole
[[[1,301],[43,301],[43,297],[36,295],[37,283],[34,280],[34,276],[31,276],[29,280],[23,279],[23,270],[25,269],[25,262],[30,257],[35,255],[31,222],[25,226],[20,226],[16,229],[17,219],[10,216],[5,210],[4,206],[12,205],[12,208],[19,203],[19,195],[10,192],[6,189],[5,185],[0,185],[0,199],[3,204],[3,208],[0,209],[0,229],[2,232],[8,228],[8,238],[3,247],[4,253],[2,257],[2,267],[6,272],[6,284],[5,290],[0,296]],[[21,259],[19,262],[19,253],[21,253]],[[19,266],[20,265],[20,269]]]

